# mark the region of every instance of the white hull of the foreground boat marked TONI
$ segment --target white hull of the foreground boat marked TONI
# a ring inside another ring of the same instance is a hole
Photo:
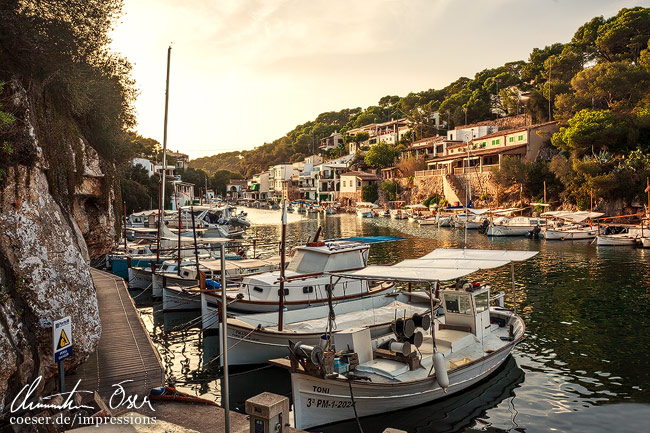
[[[510,355],[513,345],[480,361],[449,372],[447,393],[435,376],[415,382],[369,383],[355,381],[352,390],[359,417],[419,406],[456,394],[493,374]],[[349,384],[291,373],[295,427],[309,429],[354,418]]]

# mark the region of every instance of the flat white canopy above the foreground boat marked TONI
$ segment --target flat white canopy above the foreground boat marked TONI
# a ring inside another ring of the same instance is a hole
[[[389,266],[373,265],[357,271],[336,273],[336,275],[369,280],[447,281],[482,269],[494,269],[511,262],[523,262],[537,253],[537,251],[439,248],[419,259],[407,259]]]

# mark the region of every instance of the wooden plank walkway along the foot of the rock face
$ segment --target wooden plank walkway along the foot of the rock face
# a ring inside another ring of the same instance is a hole
[[[165,369],[149,333],[140,319],[124,280],[92,269],[102,335],[97,350],[77,369],[79,389],[97,391],[110,398],[122,384],[126,394],[148,395],[165,382]],[[69,379],[68,379],[69,380]]]

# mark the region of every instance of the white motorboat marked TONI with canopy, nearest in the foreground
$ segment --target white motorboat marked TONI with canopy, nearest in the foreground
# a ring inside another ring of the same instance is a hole
[[[514,264],[536,254],[438,249],[391,266],[336,273],[345,278],[427,283],[430,311],[437,311],[434,303],[439,303],[444,316],[435,317],[429,328],[430,321],[421,316],[404,315],[384,336],[373,335],[367,326],[332,332],[330,324],[324,348],[292,344],[289,359],[271,363],[291,372],[296,428],[421,405],[462,392],[494,373],[524,338],[524,322],[516,314]],[[491,287],[486,284],[439,288],[440,281],[508,264],[513,311],[491,307]]]

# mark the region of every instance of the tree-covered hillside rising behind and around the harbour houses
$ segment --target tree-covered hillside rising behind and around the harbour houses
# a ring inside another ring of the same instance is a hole
[[[539,197],[547,180],[554,199],[583,208],[590,194],[630,201],[650,174],[649,39],[650,9],[621,9],[614,17],[585,23],[567,43],[533,49],[527,61],[484,69],[442,89],[387,95],[366,109],[322,113],[270,143],[204,157],[193,167],[250,176],[273,164],[302,160],[335,130],[347,143],[354,141],[346,134],[350,129],[405,117],[413,133],[400,144],[404,147],[440,132],[436,112],[450,128],[526,113],[534,123],[559,122],[553,149],[546,152],[553,159],[529,166],[511,162],[497,176],[504,186],[520,184],[529,197]],[[385,165],[377,155],[369,162]]]

